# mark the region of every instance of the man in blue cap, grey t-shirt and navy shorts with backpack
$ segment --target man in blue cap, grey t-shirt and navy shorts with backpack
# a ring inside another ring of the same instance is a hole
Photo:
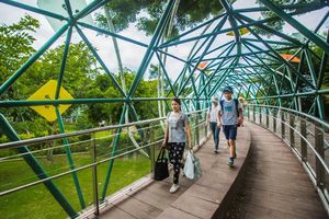
[[[237,157],[236,152],[236,138],[238,125],[242,123],[242,105],[237,99],[232,99],[232,88],[225,87],[223,89],[224,100],[219,102],[218,124],[223,126],[223,132],[229,146],[229,158],[227,164],[234,165]]]

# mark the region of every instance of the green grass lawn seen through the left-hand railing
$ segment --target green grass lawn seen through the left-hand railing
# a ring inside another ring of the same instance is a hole
[[[76,166],[81,166],[91,162],[90,154],[73,154]],[[66,155],[54,157],[54,161],[38,159],[46,171],[50,174],[68,171]],[[99,194],[103,191],[103,183],[109,163],[98,166]],[[106,195],[113,194],[120,188],[135,182],[150,172],[150,161],[143,157],[121,158],[114,162],[110,186]],[[87,169],[78,172],[80,186],[83,193],[86,205],[92,204],[92,171]],[[33,182],[37,177],[22,160],[0,163],[0,191],[3,192],[24,183]],[[76,211],[80,211],[77,191],[71,175],[67,175],[54,181],[65,197],[73,206]],[[66,212],[50,195],[43,184],[12,193],[0,198],[1,218],[67,218]]]

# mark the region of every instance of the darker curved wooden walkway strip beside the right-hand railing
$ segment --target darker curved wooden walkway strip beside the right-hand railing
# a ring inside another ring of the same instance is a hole
[[[314,185],[290,148],[270,131],[248,124],[252,153],[231,208],[235,219],[325,219]]]

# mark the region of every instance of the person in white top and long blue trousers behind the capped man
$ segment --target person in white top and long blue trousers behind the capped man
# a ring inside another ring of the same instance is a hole
[[[211,126],[211,129],[213,131],[213,139],[215,142],[215,153],[218,153],[218,147],[219,147],[219,131],[220,127],[217,126],[217,118],[218,118],[218,97],[212,99],[212,105],[207,112],[207,124]]]

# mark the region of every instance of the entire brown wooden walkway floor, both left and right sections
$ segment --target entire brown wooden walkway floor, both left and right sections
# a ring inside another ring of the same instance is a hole
[[[248,165],[241,171],[243,176],[237,181],[251,140],[252,157],[247,159]],[[277,137],[247,123],[245,128],[239,129],[237,145],[235,169],[226,164],[228,150],[220,134],[219,154],[213,153],[212,139],[196,153],[204,171],[202,178],[191,182],[180,177],[181,189],[175,194],[169,193],[171,177],[163,182],[152,182],[112,203],[101,211],[99,218],[207,219],[223,218],[226,214],[226,218],[246,219],[328,218],[302,164]],[[226,198],[231,193],[231,186],[237,183],[243,192],[240,204]],[[230,205],[234,207],[229,208]]]

